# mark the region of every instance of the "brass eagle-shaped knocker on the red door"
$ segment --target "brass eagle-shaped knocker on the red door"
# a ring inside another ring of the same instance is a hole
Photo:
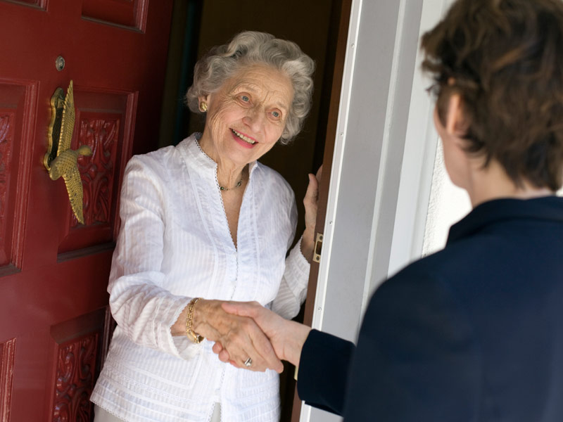
[[[66,96],[63,89],[57,88],[55,94],[51,97],[49,149],[45,154],[43,163],[52,180],[63,177],[72,212],[75,213],[76,219],[84,224],[84,216],[82,215],[84,193],[82,192],[82,180],[80,179],[77,161],[79,155],[92,155],[92,150],[87,145],[82,145],[77,150],[70,149],[75,118],[75,100],[72,94],[71,80]]]

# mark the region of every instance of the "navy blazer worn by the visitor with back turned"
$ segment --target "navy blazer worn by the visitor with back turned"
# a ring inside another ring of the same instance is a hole
[[[483,203],[374,293],[358,347],[311,331],[301,399],[346,421],[563,421],[563,198]]]

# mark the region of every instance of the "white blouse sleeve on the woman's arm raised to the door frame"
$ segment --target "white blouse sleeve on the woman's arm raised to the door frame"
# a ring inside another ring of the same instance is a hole
[[[293,194],[293,192],[292,192]],[[289,245],[295,237],[297,225],[297,207],[295,196],[290,213],[293,232],[289,236]],[[288,245],[288,248],[289,248]],[[281,278],[276,298],[272,302],[272,311],[286,319],[292,319],[299,313],[301,305],[307,296],[310,264],[301,253],[301,238],[286,257],[284,276]]]

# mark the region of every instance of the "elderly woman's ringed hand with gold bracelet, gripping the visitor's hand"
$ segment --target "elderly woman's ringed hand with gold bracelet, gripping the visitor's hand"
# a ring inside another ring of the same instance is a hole
[[[277,358],[270,340],[255,321],[247,316],[228,314],[222,309],[222,303],[222,300],[198,300],[194,306],[192,330],[210,341],[220,343],[224,349],[229,351],[231,364],[238,368],[262,372],[266,369],[273,369],[281,373],[284,366]],[[179,328],[179,324],[183,322],[182,333],[184,335],[186,313],[187,309],[184,309],[175,324]],[[183,319],[182,316],[184,316]],[[173,335],[175,334],[174,328],[176,327],[172,328]],[[252,359],[252,364],[245,366],[244,362],[249,357]]]

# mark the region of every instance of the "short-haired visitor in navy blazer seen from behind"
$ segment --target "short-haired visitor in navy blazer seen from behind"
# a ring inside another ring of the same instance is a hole
[[[299,365],[301,399],[350,422],[563,421],[562,40],[561,0],[457,0],[424,35],[445,167],[474,209],[374,293],[358,347],[224,305]]]

